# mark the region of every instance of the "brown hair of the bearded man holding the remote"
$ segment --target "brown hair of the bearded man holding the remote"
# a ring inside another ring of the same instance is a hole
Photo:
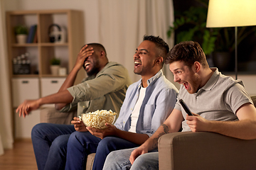
[[[175,45],[167,54],[166,64],[172,62],[184,62],[188,67],[191,67],[195,62],[200,62],[203,67],[209,67],[206,60],[206,55],[198,42],[183,41]]]

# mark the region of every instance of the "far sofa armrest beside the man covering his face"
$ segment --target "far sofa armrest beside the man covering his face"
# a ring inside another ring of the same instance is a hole
[[[70,125],[76,115],[76,111],[63,113],[55,108],[43,108],[40,111],[40,122]]]

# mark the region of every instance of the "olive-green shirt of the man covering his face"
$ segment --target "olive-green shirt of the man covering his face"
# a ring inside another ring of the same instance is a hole
[[[127,69],[116,62],[109,62],[96,77],[87,77],[81,84],[68,88],[73,102],[61,112],[78,109],[80,115],[105,109],[119,113],[130,84]]]

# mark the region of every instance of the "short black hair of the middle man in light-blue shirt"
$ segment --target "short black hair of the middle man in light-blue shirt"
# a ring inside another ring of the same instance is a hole
[[[166,55],[169,52],[169,45],[162,38],[160,38],[159,36],[156,37],[154,35],[144,35],[143,40],[149,40],[151,42],[154,42],[156,47],[159,49],[158,55],[163,57],[164,60],[166,59]]]

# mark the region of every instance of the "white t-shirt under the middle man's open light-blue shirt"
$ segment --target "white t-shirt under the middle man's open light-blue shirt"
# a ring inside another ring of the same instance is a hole
[[[146,94],[146,88],[141,87],[140,91],[139,91],[139,98],[134,106],[134,110],[132,111],[132,115],[131,115],[131,127],[129,129],[129,132],[136,132],[136,125],[137,125],[137,121],[139,118],[139,110],[142,106],[142,102],[144,100]]]

